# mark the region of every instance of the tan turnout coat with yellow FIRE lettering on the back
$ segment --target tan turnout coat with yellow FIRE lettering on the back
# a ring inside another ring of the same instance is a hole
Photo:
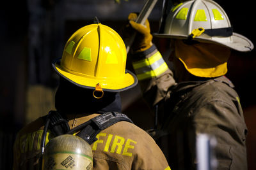
[[[69,115],[70,128],[87,122],[93,115]],[[43,118],[24,127],[14,145],[13,169],[40,169],[40,141]],[[48,135],[51,140],[51,132]],[[129,122],[104,129],[92,143],[93,169],[170,169],[163,152],[147,132]]]

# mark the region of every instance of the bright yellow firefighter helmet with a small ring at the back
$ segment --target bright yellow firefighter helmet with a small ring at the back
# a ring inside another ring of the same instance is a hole
[[[79,87],[120,92],[138,80],[125,70],[126,48],[116,31],[103,24],[82,27],[68,39],[63,55],[52,65],[56,72]]]

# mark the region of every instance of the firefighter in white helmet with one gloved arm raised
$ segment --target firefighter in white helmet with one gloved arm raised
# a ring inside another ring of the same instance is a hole
[[[153,36],[170,38],[172,71],[152,44],[149,24],[128,17],[137,32],[131,46],[133,67],[143,96],[158,108],[151,135],[172,169],[196,169],[196,136],[216,138],[216,169],[247,169],[243,110],[225,76],[230,49],[250,52],[252,42],[232,31],[227,14],[211,0],[165,1],[161,27]]]

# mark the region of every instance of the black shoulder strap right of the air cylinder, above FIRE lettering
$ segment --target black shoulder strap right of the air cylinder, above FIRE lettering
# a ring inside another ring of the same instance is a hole
[[[91,145],[93,142],[97,141],[96,136],[97,134],[99,134],[100,131],[120,121],[127,121],[133,124],[132,120],[123,113],[113,111],[92,118],[88,122],[85,122],[84,124],[75,127],[74,129],[69,131],[68,134],[73,134],[74,132],[79,131],[83,128],[82,131],[77,134],[77,136],[83,138]]]

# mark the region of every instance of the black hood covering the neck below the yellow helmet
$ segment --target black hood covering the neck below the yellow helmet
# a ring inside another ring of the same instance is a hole
[[[92,89],[78,87],[60,77],[55,107],[57,111],[65,114],[121,112],[121,97],[119,92],[104,92],[101,99],[96,99]]]

